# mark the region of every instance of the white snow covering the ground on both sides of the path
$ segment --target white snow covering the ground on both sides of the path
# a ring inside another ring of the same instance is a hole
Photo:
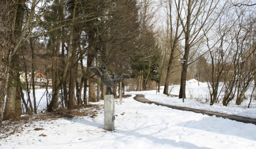
[[[192,80],[193,81],[193,80]],[[126,92],[131,97],[116,99],[115,130],[104,130],[104,111],[98,116],[60,118],[48,121],[34,121],[23,131],[0,140],[1,149],[255,149],[256,125],[200,113],[181,111],[163,106],[143,104],[133,99],[136,94],[145,98],[183,107],[201,108],[217,112],[237,114],[255,118],[255,107],[220,104],[208,106],[204,98],[207,88],[200,82],[189,82],[185,102],[178,97],[167,97],[156,91]],[[189,91],[190,87],[191,90]],[[207,86],[207,85],[206,85]],[[163,87],[162,87],[163,88]],[[41,91],[43,92],[43,91]],[[38,96],[42,94],[38,91]],[[171,94],[178,95],[179,86]],[[193,99],[190,96],[193,94]],[[38,97],[40,98],[40,97]],[[189,99],[191,98],[191,99]],[[39,105],[44,105],[42,99]],[[103,105],[103,101],[98,103]],[[246,104],[244,104],[246,105]],[[39,107],[43,109],[43,107]],[[123,114],[123,115],[122,115]],[[5,123],[5,122],[3,122]],[[34,130],[43,128],[43,130]],[[45,136],[46,135],[46,136]],[[1,136],[1,134],[0,134]]]

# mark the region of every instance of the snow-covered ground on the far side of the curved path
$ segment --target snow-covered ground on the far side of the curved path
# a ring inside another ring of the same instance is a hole
[[[182,106],[196,109],[203,109],[208,111],[232,114],[245,116],[250,118],[256,118],[256,101],[252,101],[250,104],[251,108],[247,108],[249,104],[249,99],[251,95],[251,90],[246,92],[247,99],[244,102],[237,106],[235,100],[232,100],[227,107],[222,105],[222,101],[218,104],[214,104],[210,106],[210,97],[208,95],[208,86],[207,83],[200,82],[198,86],[198,82],[195,79],[189,80],[186,83],[186,97],[184,99],[184,103],[182,103],[182,99],[178,99],[180,85],[173,86],[171,91],[171,96],[167,97],[167,95],[163,94],[163,88],[161,87],[160,93],[156,94],[156,91],[140,91],[140,92],[131,92],[133,94],[144,94],[145,98],[151,101],[160,102],[164,104],[174,105],[174,106]],[[176,96],[172,96],[176,95]],[[207,102],[206,102],[207,99]]]

